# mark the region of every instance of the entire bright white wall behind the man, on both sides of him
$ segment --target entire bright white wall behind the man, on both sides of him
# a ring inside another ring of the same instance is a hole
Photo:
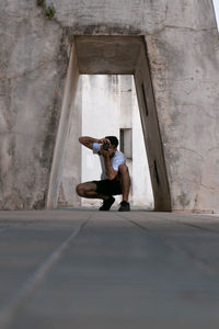
[[[82,77],[82,135],[96,138],[115,135],[119,128],[132,128],[132,161],[127,160],[131,177],[129,201],[132,206],[153,208],[153,195],[136,98],[130,76]],[[97,156],[82,147],[82,182],[100,179]],[[120,196],[116,197],[116,204]],[[101,204],[99,200],[82,198],[82,205]]]

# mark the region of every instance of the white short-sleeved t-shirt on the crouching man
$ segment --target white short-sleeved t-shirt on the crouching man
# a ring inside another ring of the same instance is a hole
[[[99,143],[93,143],[93,154],[94,154],[94,155],[97,155],[99,151],[100,151],[100,149],[101,149],[101,144],[99,144]],[[103,156],[100,156],[100,155],[99,155],[99,157],[100,157],[100,160],[101,160],[101,167],[102,167],[101,179],[102,179],[102,180],[107,180],[108,177],[107,177],[107,174],[106,174],[104,157],[103,157]],[[116,150],[114,157],[111,159],[111,166],[113,167],[113,169],[114,169],[115,171],[118,171],[118,167],[119,167],[120,164],[125,164],[125,163],[126,163],[126,158],[125,158],[124,154],[123,154],[122,151],[119,151],[119,150]]]

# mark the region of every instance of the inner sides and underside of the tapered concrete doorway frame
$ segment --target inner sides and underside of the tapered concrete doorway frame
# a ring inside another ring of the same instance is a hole
[[[145,38],[140,36],[77,36],[74,38],[51,166],[47,208],[57,206],[79,75],[134,75],[154,196],[154,209],[171,211],[170,189],[147,47]]]

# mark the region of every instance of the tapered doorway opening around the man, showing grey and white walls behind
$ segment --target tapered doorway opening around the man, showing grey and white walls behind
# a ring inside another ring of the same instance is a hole
[[[79,77],[58,207],[99,207],[102,203],[101,200],[81,198],[76,194],[77,184],[99,180],[101,177],[100,159],[90,149],[81,148],[78,141],[81,135],[95,138],[117,136],[118,149],[126,157],[131,178],[131,208],[153,209],[152,186],[132,76]],[[116,196],[114,205],[117,206],[120,201],[120,196]]]

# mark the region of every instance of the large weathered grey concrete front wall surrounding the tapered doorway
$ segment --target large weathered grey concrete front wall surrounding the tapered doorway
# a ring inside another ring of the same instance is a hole
[[[146,35],[173,209],[219,211],[211,0],[0,3],[0,207],[44,207],[73,34]],[[68,29],[69,27],[69,29]]]

